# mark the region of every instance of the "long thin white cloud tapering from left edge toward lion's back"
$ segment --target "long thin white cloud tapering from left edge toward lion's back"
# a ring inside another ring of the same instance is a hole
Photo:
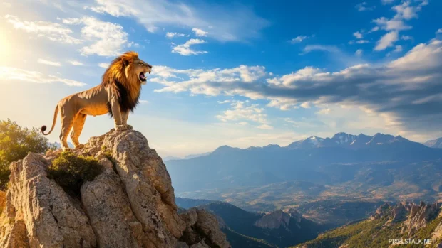
[[[53,75],[47,76],[41,72],[0,66],[0,82],[9,83],[9,81],[11,80],[34,82],[38,84],[62,82],[65,85],[77,86],[77,87],[86,85],[85,83],[78,82],[76,80],[69,80],[61,77],[56,77]]]

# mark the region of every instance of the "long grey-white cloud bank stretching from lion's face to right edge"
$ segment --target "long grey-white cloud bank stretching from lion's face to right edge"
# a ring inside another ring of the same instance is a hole
[[[163,84],[155,92],[247,97],[282,110],[322,104],[363,106],[404,130],[430,129],[428,123],[442,122],[438,108],[442,98],[432,97],[440,94],[442,80],[442,41],[437,39],[416,45],[401,58],[382,65],[360,64],[335,72],[306,67],[277,77],[262,67],[256,67],[255,72],[249,68],[243,66],[254,79],[247,82],[239,76],[238,68],[163,68],[161,74],[167,76],[153,75],[153,82]]]

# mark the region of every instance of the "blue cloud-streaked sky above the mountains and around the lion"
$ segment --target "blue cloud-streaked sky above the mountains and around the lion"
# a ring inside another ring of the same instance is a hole
[[[0,119],[51,124],[61,98],[135,50],[153,73],[129,122],[163,156],[339,131],[442,136],[442,1],[0,5]],[[88,117],[81,141],[112,127]]]

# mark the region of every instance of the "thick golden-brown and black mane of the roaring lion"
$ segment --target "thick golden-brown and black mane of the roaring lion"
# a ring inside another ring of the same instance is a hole
[[[115,58],[103,74],[101,85],[111,87],[111,90],[118,96],[122,112],[129,110],[133,112],[140,98],[141,84],[138,81],[138,75],[131,72],[133,61],[137,59],[138,53],[132,51],[124,53]],[[108,104],[108,111],[112,115],[110,104]]]

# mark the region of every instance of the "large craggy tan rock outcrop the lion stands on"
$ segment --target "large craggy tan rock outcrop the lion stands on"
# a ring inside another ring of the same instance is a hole
[[[111,130],[74,151],[104,168],[79,197],[47,177],[60,152],[11,164],[0,247],[230,247],[210,213],[178,214],[169,173],[140,132]]]

